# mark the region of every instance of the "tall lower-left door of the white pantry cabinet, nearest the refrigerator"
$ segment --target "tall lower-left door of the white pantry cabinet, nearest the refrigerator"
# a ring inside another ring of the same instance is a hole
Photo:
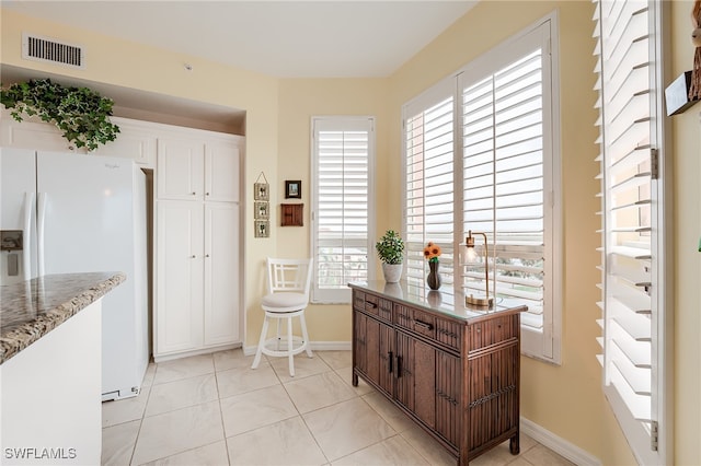
[[[157,202],[156,356],[203,345],[203,206]]]

